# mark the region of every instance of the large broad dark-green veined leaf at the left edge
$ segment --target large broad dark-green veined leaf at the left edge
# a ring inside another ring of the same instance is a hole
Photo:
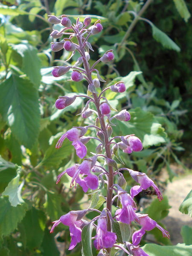
[[[11,75],[0,84],[0,112],[17,140],[32,148],[38,138],[40,111],[38,92],[25,78]]]

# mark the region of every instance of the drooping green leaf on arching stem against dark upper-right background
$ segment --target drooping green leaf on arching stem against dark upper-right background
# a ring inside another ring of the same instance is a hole
[[[153,33],[153,38],[159,42],[160,44],[163,45],[163,47],[175,50],[176,52],[180,52],[180,47],[178,47],[177,44],[175,44],[174,41],[172,41],[171,38],[169,38],[166,33],[158,29],[156,26],[154,26],[153,23],[150,22],[150,25],[152,27],[152,33]]]

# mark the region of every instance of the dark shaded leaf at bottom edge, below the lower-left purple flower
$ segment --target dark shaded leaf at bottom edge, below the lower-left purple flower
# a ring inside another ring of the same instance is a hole
[[[59,256],[60,253],[55,244],[54,234],[50,234],[49,230],[46,228],[44,230],[44,238],[41,246],[44,249],[42,256]]]

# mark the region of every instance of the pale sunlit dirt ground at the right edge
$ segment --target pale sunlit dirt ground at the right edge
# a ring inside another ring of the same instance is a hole
[[[163,223],[166,225],[167,230],[171,236],[172,244],[183,243],[182,236],[180,234],[181,227],[184,225],[192,226],[192,218],[189,215],[181,213],[178,208],[188,193],[192,189],[192,174],[178,177],[171,183],[168,183],[166,192],[169,199],[169,205],[172,207],[169,209],[169,215],[163,219]]]

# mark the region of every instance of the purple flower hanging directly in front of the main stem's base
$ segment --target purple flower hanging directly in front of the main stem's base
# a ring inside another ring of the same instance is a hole
[[[97,250],[111,248],[116,242],[116,234],[107,230],[107,214],[102,211],[97,221],[96,236],[93,242]]]

